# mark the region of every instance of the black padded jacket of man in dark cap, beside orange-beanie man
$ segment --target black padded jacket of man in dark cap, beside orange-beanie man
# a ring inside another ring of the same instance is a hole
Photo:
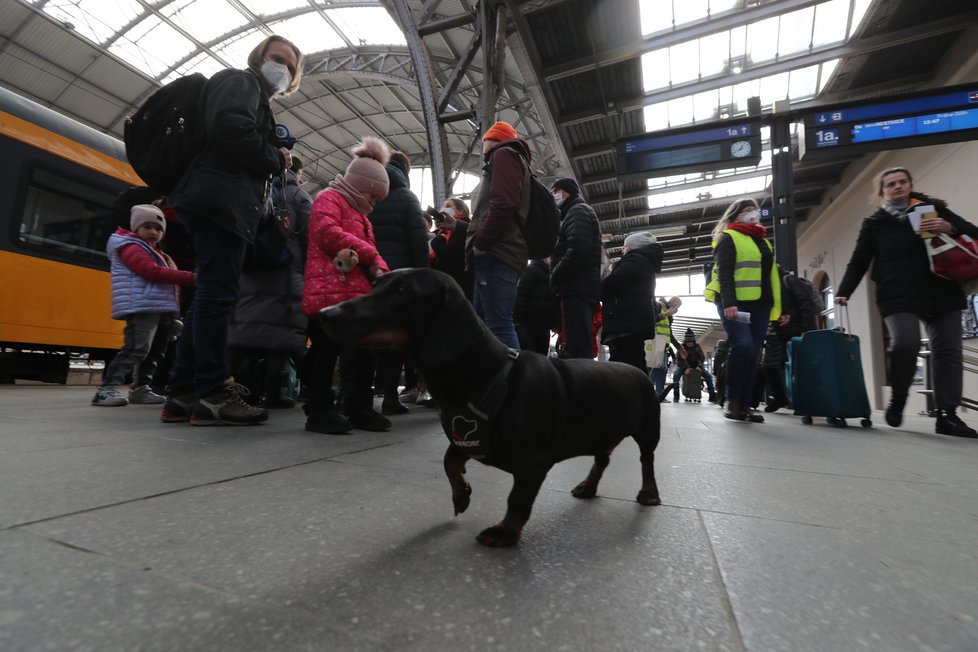
[[[550,257],[550,287],[558,297],[601,298],[601,226],[580,195],[560,207],[560,233]]]

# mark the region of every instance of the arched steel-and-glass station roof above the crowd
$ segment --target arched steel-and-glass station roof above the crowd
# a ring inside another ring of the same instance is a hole
[[[305,53],[277,119],[308,187],[368,134],[414,165],[478,175],[484,123],[514,124],[546,182],[575,177],[606,247],[653,229],[664,274],[710,259],[735,196],[770,193],[756,166],[620,183],[616,139],[762,112],[944,85],[973,56],[973,0],[13,0],[0,3],[0,84],[121,137],[161,84],[243,67],[268,34]],[[958,80],[967,81],[967,80]],[[437,137],[432,137],[437,133]],[[799,221],[851,160],[796,163]],[[468,188],[454,187],[456,193]],[[437,193],[436,193],[437,194]],[[437,201],[437,200],[436,200]]]

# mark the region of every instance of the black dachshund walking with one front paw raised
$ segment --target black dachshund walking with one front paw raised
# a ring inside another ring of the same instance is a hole
[[[661,504],[653,472],[659,402],[635,367],[517,355],[485,327],[450,276],[429,269],[385,274],[370,293],[325,308],[320,318],[338,341],[405,351],[424,377],[450,442],[445,473],[456,515],[472,493],[464,476],[470,458],[513,475],[506,516],[483,530],[479,543],[503,547],[519,540],[557,462],[594,456],[572,492],[594,497],[611,451],[628,436],[641,454],[636,500]]]

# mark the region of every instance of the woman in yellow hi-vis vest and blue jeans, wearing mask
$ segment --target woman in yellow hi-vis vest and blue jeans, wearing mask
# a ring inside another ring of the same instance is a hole
[[[727,207],[713,229],[713,270],[703,295],[717,305],[727,332],[727,401],[723,416],[761,423],[751,394],[768,324],[781,315],[781,279],[753,199]]]

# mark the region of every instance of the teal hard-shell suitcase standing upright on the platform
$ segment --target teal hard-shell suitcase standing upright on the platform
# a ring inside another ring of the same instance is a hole
[[[855,335],[817,330],[792,338],[785,385],[791,407],[805,424],[812,417],[827,417],[832,425],[844,427],[847,417],[862,417],[863,427],[873,425]]]

